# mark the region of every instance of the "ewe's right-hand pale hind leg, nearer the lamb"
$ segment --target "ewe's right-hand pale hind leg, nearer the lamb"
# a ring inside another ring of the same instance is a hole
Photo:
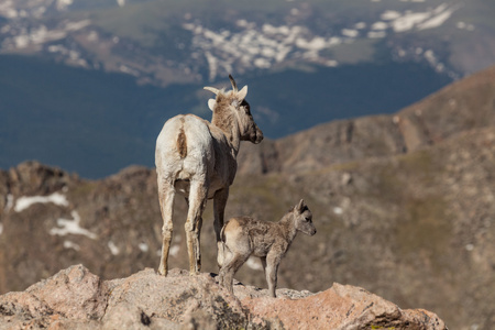
[[[201,215],[205,209],[208,187],[202,182],[191,182],[189,188],[189,210],[185,224],[187,252],[189,254],[189,273],[198,274],[201,270],[201,252],[199,232],[201,230]]]

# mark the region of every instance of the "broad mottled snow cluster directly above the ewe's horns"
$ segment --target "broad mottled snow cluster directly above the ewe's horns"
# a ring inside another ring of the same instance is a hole
[[[334,66],[331,58],[320,52],[339,45],[348,38],[358,36],[353,29],[342,30],[342,35],[314,35],[300,25],[263,24],[239,20],[239,31],[212,31],[196,23],[186,23],[185,30],[194,34],[193,47],[204,52],[209,66],[209,79],[213,80],[220,72],[271,68],[286,59],[306,59],[322,65]],[[199,54],[197,54],[199,55]]]

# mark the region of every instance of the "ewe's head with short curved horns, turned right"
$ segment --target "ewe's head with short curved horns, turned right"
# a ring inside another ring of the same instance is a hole
[[[245,100],[248,86],[238,90],[235,80],[231,75],[229,75],[229,79],[232,84],[231,91],[226,92],[215,87],[205,87],[206,90],[209,90],[217,96],[216,99],[210,99],[208,101],[208,107],[215,114],[221,117],[220,120],[231,121],[232,119],[235,119],[232,124],[237,122],[241,140],[260,143],[263,140],[263,132],[254,122],[250,110],[250,103]]]

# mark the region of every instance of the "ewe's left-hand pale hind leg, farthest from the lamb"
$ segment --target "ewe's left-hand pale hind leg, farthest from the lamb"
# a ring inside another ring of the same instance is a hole
[[[168,250],[170,248],[173,223],[172,216],[174,213],[174,196],[175,188],[167,179],[158,175],[158,197],[160,197],[160,210],[163,218],[162,227],[162,257],[160,260],[158,274],[167,275],[167,260]]]

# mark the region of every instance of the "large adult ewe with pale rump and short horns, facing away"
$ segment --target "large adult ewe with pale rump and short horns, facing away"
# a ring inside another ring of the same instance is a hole
[[[189,271],[201,268],[199,235],[207,199],[213,199],[215,232],[218,264],[223,263],[220,230],[223,211],[238,168],[237,155],[241,141],[260,143],[263,133],[257,128],[245,100],[248,86],[238,90],[234,79],[231,91],[205,87],[217,97],[208,101],[213,111],[211,123],[194,114],[179,114],[165,122],[156,139],[155,165],[160,207],[163,217],[163,248],[158,273],[167,274],[168,250],[172,240],[172,215],[175,193],[186,197],[186,220]]]

